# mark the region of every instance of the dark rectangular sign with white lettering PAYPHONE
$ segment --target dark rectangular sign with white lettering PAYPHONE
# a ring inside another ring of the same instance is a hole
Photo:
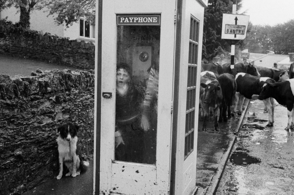
[[[117,16],[117,25],[160,26],[160,15]]]

